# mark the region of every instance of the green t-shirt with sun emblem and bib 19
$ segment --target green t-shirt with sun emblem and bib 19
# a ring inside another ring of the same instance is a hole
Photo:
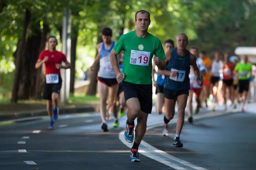
[[[134,84],[152,85],[152,57],[165,59],[161,41],[148,33],[144,38],[135,31],[122,35],[116,42],[114,50],[119,54],[124,50],[124,81]]]

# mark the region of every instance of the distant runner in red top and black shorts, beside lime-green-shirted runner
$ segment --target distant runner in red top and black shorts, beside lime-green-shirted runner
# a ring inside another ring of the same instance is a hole
[[[229,99],[234,102],[234,88],[233,88],[233,70],[234,65],[229,61],[230,55],[225,53],[224,55],[224,63],[223,63],[223,85],[222,92],[225,104],[225,110],[227,110],[227,97],[226,97],[226,89],[228,87]],[[234,104],[234,103],[233,103]]]

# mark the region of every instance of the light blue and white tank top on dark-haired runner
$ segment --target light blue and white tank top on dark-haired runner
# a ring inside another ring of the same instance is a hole
[[[109,54],[111,50],[115,46],[115,41],[112,42],[109,50],[105,49],[105,43],[102,43],[102,47],[100,50],[100,69],[98,72],[98,76],[102,78],[116,78],[115,71],[110,63]]]

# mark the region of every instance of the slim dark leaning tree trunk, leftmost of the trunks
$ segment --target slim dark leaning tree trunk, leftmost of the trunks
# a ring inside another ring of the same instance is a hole
[[[12,88],[12,98],[11,102],[17,103],[18,100],[18,91],[19,91],[19,83],[20,83],[20,76],[21,76],[21,64],[22,64],[22,57],[25,54],[26,42],[28,40],[28,26],[30,22],[30,11],[26,9],[25,18],[24,18],[24,27],[22,33],[22,39],[17,44],[17,51],[16,51],[16,59],[15,59],[15,73],[14,73],[14,80],[13,80],[13,88]]]

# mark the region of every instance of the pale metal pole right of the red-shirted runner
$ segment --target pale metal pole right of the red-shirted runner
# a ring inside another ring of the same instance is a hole
[[[67,60],[70,62],[70,51],[71,51],[71,11],[68,8],[63,10],[63,26],[62,26],[62,53],[67,56]],[[62,76],[62,88],[60,90],[60,101],[62,103],[68,103],[69,97],[69,82],[70,82],[70,69],[61,69]]]

